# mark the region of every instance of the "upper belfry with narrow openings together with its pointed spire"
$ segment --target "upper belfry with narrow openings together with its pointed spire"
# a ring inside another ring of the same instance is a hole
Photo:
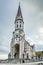
[[[15,30],[22,30],[22,31],[24,30],[24,22],[23,22],[20,4],[19,4],[19,7],[18,7],[16,19],[15,19]]]

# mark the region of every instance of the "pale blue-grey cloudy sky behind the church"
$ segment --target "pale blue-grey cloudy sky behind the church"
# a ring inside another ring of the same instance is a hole
[[[35,44],[36,51],[43,51],[43,0],[0,0],[0,59],[10,51],[19,2],[26,40]]]

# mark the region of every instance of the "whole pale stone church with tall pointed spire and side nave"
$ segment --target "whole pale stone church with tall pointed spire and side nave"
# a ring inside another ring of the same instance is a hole
[[[30,45],[30,43],[25,39],[24,21],[20,4],[14,24],[15,30],[10,43],[10,53],[8,54],[8,59],[34,59],[35,46]]]

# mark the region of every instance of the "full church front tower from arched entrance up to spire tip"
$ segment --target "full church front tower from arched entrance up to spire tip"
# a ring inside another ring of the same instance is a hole
[[[18,7],[14,24],[15,31],[13,32],[13,38],[11,41],[11,58],[23,58],[25,34],[20,4]]]

